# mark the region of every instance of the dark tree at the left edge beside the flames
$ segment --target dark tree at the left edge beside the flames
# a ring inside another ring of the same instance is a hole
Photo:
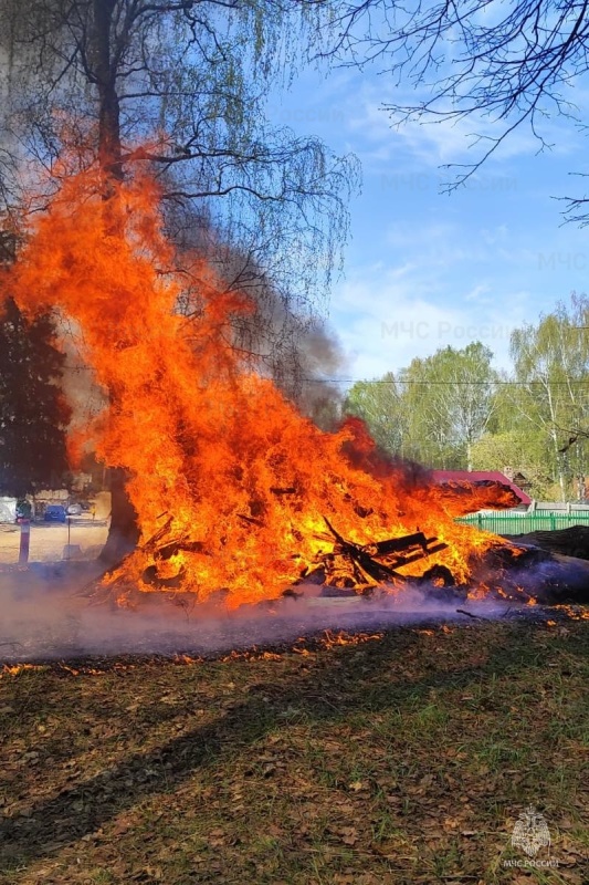
[[[50,313],[28,319],[12,299],[0,313],[0,492],[55,488],[67,471],[65,357]]]

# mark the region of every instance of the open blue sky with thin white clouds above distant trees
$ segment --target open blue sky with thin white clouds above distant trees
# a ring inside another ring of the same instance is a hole
[[[345,278],[329,308],[348,357],[344,374],[377,377],[471,341],[507,368],[514,327],[588,289],[589,230],[562,225],[564,204],[553,199],[582,195],[583,179],[570,173],[585,169],[586,137],[564,118],[547,119],[554,147],[537,155],[537,139],[516,132],[465,188],[443,195],[440,167],[472,162],[467,136],[491,132],[488,124],[391,128],[380,105],[393,94],[387,74],[339,69],[305,71],[270,102],[272,122],[362,165]]]

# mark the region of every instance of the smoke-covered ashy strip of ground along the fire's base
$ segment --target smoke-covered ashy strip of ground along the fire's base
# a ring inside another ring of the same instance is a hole
[[[98,563],[44,564],[0,574],[0,660],[72,659],[87,656],[215,656],[252,647],[271,648],[313,637],[323,631],[385,631],[396,626],[472,623],[471,618],[548,617],[530,605],[541,586],[567,577],[580,582],[587,571],[570,563],[545,563],[514,573],[526,587],[520,604],[497,598],[465,598],[433,585],[382,587],[370,597],[323,595],[313,584],[301,595],[228,610],[199,603],[191,594],[138,593],[120,605],[97,582]],[[576,571],[577,570],[577,571]],[[487,585],[488,586],[488,585]]]

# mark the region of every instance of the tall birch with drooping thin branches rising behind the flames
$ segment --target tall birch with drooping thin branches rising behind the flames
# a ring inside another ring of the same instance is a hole
[[[105,201],[134,165],[149,165],[168,201],[196,206],[253,257],[286,310],[312,313],[346,235],[357,167],[317,138],[269,126],[264,102],[271,84],[288,80],[322,8],[0,0],[0,126],[24,160],[49,171],[64,148],[73,171],[97,164]],[[106,556],[137,538],[119,473]]]

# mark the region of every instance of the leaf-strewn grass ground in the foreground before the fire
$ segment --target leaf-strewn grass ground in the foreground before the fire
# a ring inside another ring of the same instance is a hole
[[[361,638],[4,671],[0,883],[589,883],[589,622]]]

